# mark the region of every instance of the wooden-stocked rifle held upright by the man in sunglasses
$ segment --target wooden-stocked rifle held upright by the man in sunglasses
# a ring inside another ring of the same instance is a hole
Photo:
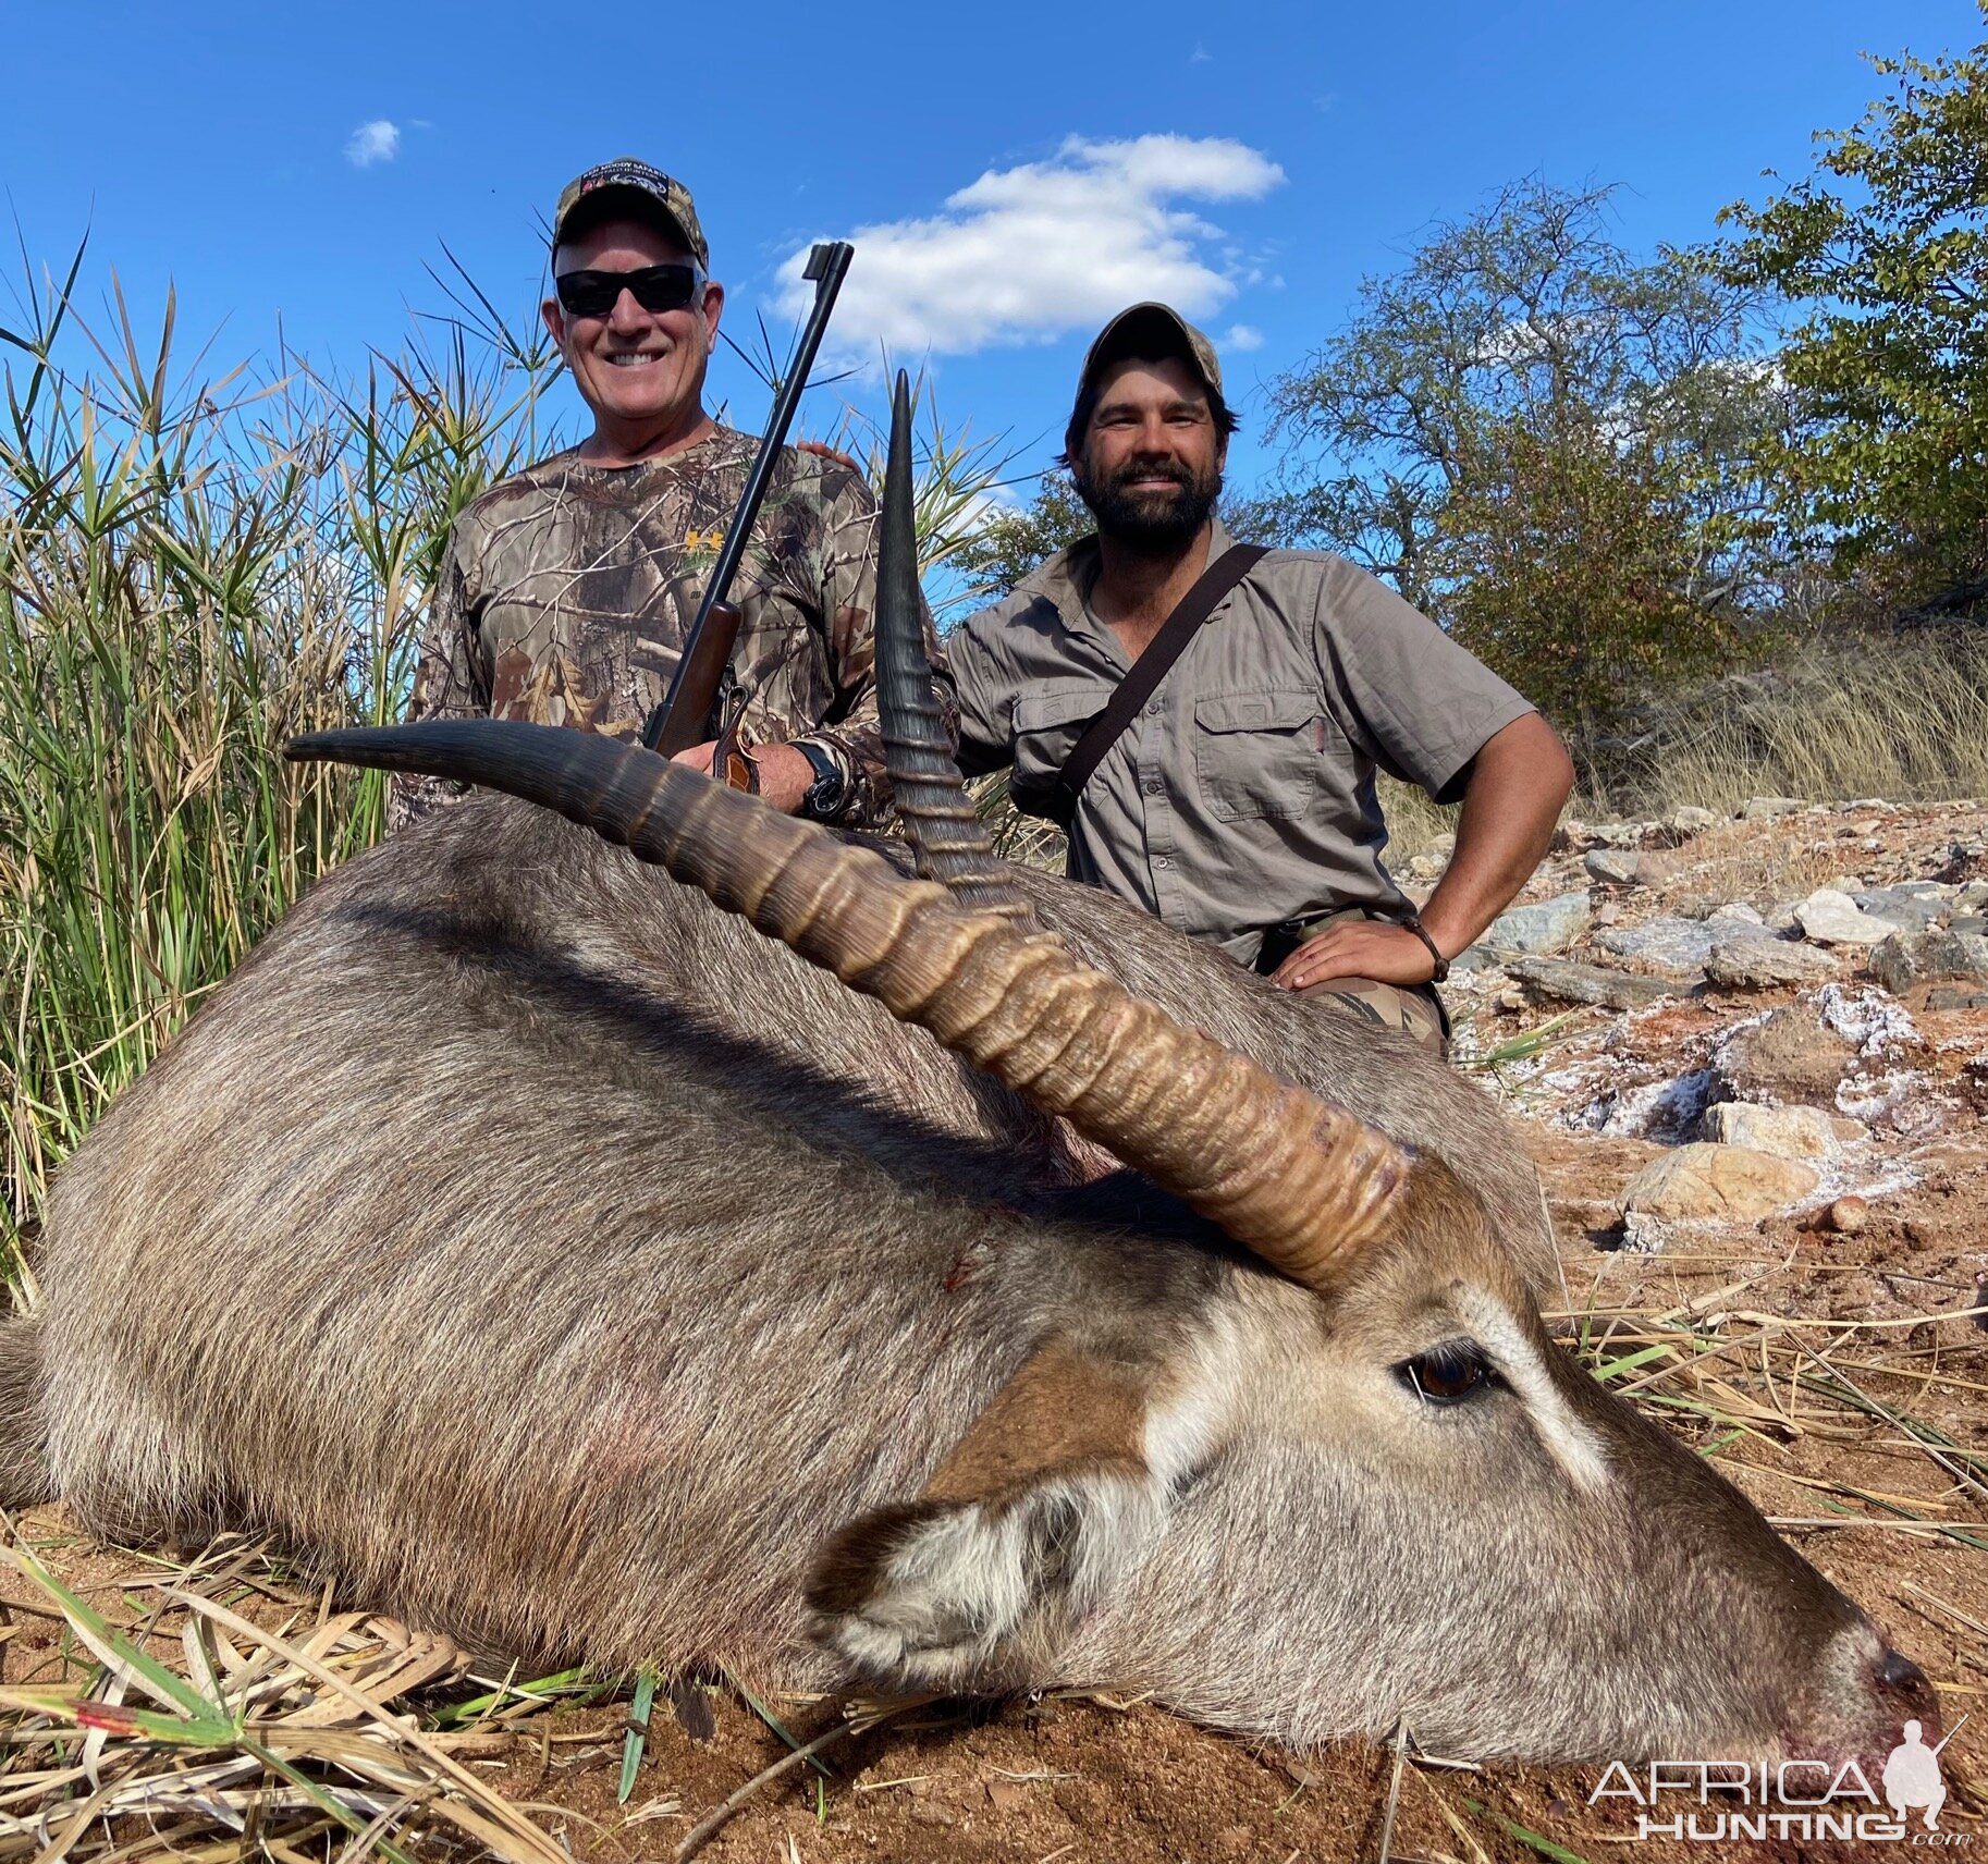
[[[670,690],[642,725],[642,743],[664,757],[720,739],[720,755],[712,759],[720,769],[714,775],[732,781],[734,789],[753,785],[747,759],[726,747],[734,737],[740,711],[746,707],[746,692],[732,672],[740,612],[726,598],[732,592],[732,578],[746,554],[753,521],[759,517],[759,503],[773,477],[773,463],[787,439],[801,389],[807,388],[807,372],[815,366],[815,352],[829,328],[829,312],[835,310],[835,294],[843,288],[843,274],[849,270],[855,250],[847,240],[823,240],[807,254],[807,270],[801,276],[813,280],[815,308],[807,314],[807,328],[801,332],[801,342],[787,364],[787,376],[773,397],[773,415],[759,441],[751,471],[746,475],[746,491],[740,495],[740,509],[732,513],[732,529],[718,550],[712,580],[704,586],[698,618],[690,624],[690,634],[684,636],[684,652],[670,678]],[[738,767],[738,781],[734,781],[734,767]]]

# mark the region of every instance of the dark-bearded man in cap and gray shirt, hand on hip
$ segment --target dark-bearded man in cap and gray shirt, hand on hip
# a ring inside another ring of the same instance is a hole
[[[1175,310],[1103,328],[1064,437],[1097,535],[946,642],[968,773],[1012,767],[1016,803],[1052,813],[1085,727],[1231,548],[1233,429],[1215,348]],[[1463,805],[1419,916],[1380,858],[1376,769]],[[1074,878],[1439,1049],[1433,986],[1539,866],[1573,781],[1533,705],[1384,582],[1270,550],[1054,813],[1072,811]]]

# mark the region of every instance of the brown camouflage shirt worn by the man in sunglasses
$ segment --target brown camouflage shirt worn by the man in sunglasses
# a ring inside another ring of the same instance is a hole
[[[632,467],[567,451],[473,499],[449,537],[408,717],[640,733],[676,672],[755,447],[718,427]],[[873,680],[875,521],[859,475],[787,449],[732,582],[747,735],[825,749],[849,779],[837,821],[851,827],[889,807]],[[930,616],[924,636],[950,713]],[[433,777],[398,777],[392,825],[457,795]]]

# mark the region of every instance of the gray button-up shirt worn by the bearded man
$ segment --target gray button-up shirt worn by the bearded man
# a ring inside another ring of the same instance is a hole
[[[1215,525],[1209,562],[1233,539]],[[960,763],[1048,787],[1127,660],[1089,612],[1097,541],[1052,556],[946,638]],[[1272,550],[1217,604],[1091,773],[1070,874],[1254,964],[1266,928],[1402,914],[1374,771],[1455,801],[1485,739],[1533,707],[1342,556]]]

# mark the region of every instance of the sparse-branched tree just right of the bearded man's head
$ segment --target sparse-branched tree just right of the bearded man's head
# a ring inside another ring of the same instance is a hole
[[[1634,262],[1608,189],[1505,189],[1443,225],[1272,386],[1282,489],[1250,519],[1388,576],[1563,717],[1724,664],[1783,409],[1747,294]]]

